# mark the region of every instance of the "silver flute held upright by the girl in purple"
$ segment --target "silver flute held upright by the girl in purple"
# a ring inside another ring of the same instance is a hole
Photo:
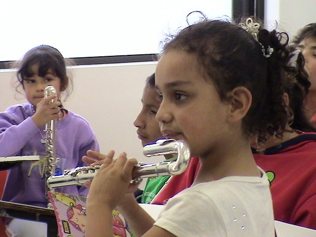
[[[47,98],[50,95],[56,95],[56,89],[52,85],[48,85],[44,90],[44,98]],[[50,103],[53,103],[57,100],[57,98],[52,99]],[[45,124],[45,132],[46,132],[46,166],[45,166],[45,180],[46,180],[46,198],[48,198],[48,191],[52,191],[52,189],[47,185],[47,180],[50,176],[55,174],[55,162],[56,162],[56,154],[55,154],[55,131],[56,131],[56,120],[52,119],[48,123]],[[51,203],[48,202],[47,205],[51,208]]]

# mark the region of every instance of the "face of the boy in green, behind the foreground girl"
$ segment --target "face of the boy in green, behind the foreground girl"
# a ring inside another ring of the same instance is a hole
[[[155,143],[162,138],[156,114],[159,109],[160,100],[156,88],[146,86],[143,91],[142,103],[143,108],[134,121],[137,127],[138,138],[142,140],[142,145]]]

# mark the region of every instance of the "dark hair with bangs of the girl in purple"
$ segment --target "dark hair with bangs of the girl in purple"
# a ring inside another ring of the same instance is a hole
[[[60,89],[66,89],[70,84],[71,79],[67,76],[66,60],[63,55],[52,46],[40,45],[27,51],[22,60],[14,65],[18,68],[17,78],[22,86],[25,79],[33,76],[31,67],[35,64],[39,66],[40,77],[44,77],[48,70],[52,70],[53,74],[61,80]]]

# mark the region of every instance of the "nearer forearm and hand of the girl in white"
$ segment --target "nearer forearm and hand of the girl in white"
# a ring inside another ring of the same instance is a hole
[[[112,211],[126,193],[137,188],[130,184],[137,161],[127,159],[125,153],[115,161],[113,156],[111,151],[91,183],[87,197],[86,237],[113,237]]]

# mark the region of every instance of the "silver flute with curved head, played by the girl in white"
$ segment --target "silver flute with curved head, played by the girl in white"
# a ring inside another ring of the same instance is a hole
[[[147,157],[176,154],[176,159],[166,160],[159,163],[139,163],[132,173],[132,182],[138,183],[142,178],[178,175],[183,173],[190,161],[190,150],[183,140],[160,139],[154,144],[144,147],[143,153]],[[64,174],[50,176],[47,179],[47,186],[50,189],[83,185],[85,181],[95,177],[100,165],[81,166],[74,169],[65,170]]]

